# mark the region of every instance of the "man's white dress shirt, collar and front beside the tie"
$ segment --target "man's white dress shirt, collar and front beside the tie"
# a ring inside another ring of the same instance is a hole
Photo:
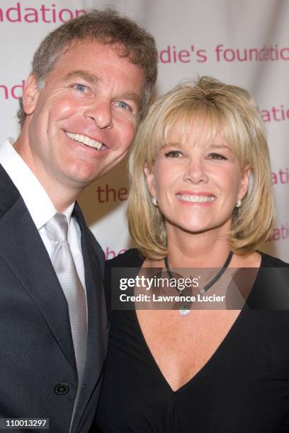
[[[45,248],[47,249],[47,253],[51,258],[54,248],[52,246],[52,241],[50,241],[50,238],[47,236],[45,224],[55,215],[57,209],[55,209],[54,204],[50,200],[50,197],[47,195],[47,192],[44,187],[42,187],[38,178],[36,178],[21,156],[14,149],[13,142],[13,139],[7,139],[4,144],[0,145],[0,163],[20,192],[31,218],[38,229]],[[68,242],[77,267],[77,273],[84,289],[86,289],[84,260],[81,253],[81,231],[77,220],[72,218],[73,208],[74,203],[72,203],[63,213],[66,215],[69,224]]]

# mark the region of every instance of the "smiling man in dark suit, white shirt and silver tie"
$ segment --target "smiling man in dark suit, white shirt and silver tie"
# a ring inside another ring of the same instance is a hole
[[[125,156],[156,78],[152,36],[115,11],[64,23],[35,52],[21,134],[0,146],[0,418],[28,419],[18,431],[48,418],[89,432],[108,323],[103,251],[76,200]]]

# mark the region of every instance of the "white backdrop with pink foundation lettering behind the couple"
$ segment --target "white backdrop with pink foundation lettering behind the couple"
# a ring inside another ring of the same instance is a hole
[[[157,94],[211,75],[253,93],[272,159],[277,221],[262,250],[289,261],[289,0],[0,0],[0,142],[16,137],[16,110],[33,53],[45,35],[91,7],[115,6],[156,38]],[[108,258],[130,246],[125,161],[80,197]]]

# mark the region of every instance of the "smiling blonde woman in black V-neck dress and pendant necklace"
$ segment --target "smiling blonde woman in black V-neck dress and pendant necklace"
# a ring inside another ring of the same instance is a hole
[[[256,250],[274,212],[250,94],[209,77],[167,93],[140,125],[130,185],[137,249],[107,265],[111,337],[96,431],[289,432],[289,265]],[[156,307],[159,289],[120,290],[120,276],[163,272],[168,285],[181,268],[198,284],[163,294],[186,301]],[[120,294],[151,298],[122,307]],[[203,302],[213,295],[219,304]]]

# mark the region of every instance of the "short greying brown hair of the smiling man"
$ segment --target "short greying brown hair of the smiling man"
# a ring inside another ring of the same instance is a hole
[[[89,40],[114,45],[120,57],[128,57],[132,64],[139,65],[145,75],[145,90],[142,95],[140,118],[145,115],[157,81],[157,48],[154,37],[135,21],[107,8],[93,9],[78,16],[49,33],[35,52],[32,74],[38,89],[45,86],[45,79],[52,71],[61,54],[77,40]],[[26,113],[22,98],[19,100],[18,122],[23,127]]]

